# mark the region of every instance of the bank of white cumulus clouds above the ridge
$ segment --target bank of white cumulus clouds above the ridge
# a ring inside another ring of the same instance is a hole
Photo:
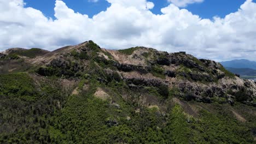
[[[55,3],[55,17],[45,17],[22,0],[0,0],[0,51],[10,47],[54,50],[94,40],[107,49],[147,46],[187,51],[200,58],[256,60],[256,3],[247,0],[235,13],[201,19],[170,4],[162,14],[146,0],[107,0],[107,10],[89,18],[75,13],[63,1]]]

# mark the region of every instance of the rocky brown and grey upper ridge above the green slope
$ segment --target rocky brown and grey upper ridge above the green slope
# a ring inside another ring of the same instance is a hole
[[[0,59],[7,55],[0,53]],[[114,51],[100,49],[89,41],[62,47],[28,62],[42,66],[37,73],[43,76],[79,78],[97,74],[101,83],[115,80],[137,88],[176,88],[178,92],[174,96],[185,100],[255,105],[255,82],[240,79],[220,63],[197,59],[184,52],[167,53],[146,47]]]

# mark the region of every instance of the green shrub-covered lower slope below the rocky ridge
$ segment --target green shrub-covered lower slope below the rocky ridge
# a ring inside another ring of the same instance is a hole
[[[69,97],[53,83],[41,81],[38,86],[26,73],[1,75],[0,83],[1,143],[253,142],[249,129],[255,128],[255,122],[238,122],[217,104],[211,104],[211,113],[202,109],[198,117],[188,116],[179,105],[163,116],[157,109],[124,101],[120,89],[125,84],[121,83],[100,84],[92,78],[88,90]],[[110,89],[120,108],[94,97],[96,87]],[[56,101],[65,104],[62,109]],[[135,112],[137,108],[139,113]],[[251,108],[243,105],[241,110],[246,109]]]

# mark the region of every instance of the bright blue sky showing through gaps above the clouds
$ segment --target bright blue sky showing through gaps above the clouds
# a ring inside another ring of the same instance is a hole
[[[45,16],[54,17],[54,0],[25,0],[26,7],[32,7],[42,11]],[[92,17],[100,11],[106,10],[110,3],[105,0],[98,2],[89,2],[88,0],[63,0],[66,5],[75,12],[87,14]],[[161,14],[160,9],[167,7],[170,3],[167,0],[151,0],[155,7],[151,10],[154,14]],[[213,16],[224,17],[230,13],[234,13],[240,8],[245,0],[205,0],[202,3],[189,4],[185,9],[191,11],[195,15],[199,15],[203,19],[212,19]],[[255,0],[253,1],[255,2]]]

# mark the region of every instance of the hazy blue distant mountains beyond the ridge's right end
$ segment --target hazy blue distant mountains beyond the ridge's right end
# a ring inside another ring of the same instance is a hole
[[[247,59],[220,62],[231,73],[247,76],[256,75],[256,62]]]

